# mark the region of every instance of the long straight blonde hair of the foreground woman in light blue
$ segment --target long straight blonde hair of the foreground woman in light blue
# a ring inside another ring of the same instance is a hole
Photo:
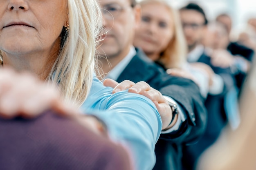
[[[81,106],[92,86],[101,11],[97,0],[67,2],[69,30],[61,33],[61,49],[47,80],[58,84],[66,100]]]

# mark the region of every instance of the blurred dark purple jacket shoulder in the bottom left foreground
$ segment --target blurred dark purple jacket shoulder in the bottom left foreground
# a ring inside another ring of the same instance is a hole
[[[0,119],[0,131],[0,170],[131,170],[121,146],[56,114]]]

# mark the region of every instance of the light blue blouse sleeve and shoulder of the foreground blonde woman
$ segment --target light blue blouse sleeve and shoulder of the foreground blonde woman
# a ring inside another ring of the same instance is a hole
[[[103,120],[111,139],[128,146],[136,170],[153,169],[155,143],[162,130],[155,104],[142,95],[127,91],[112,95],[112,90],[94,77],[81,110]]]

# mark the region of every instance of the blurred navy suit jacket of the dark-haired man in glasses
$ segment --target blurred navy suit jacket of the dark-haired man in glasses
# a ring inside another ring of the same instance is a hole
[[[227,69],[223,69],[220,67],[215,67],[211,64],[211,58],[207,56],[205,53],[201,55],[198,59],[198,62],[205,63],[209,65],[214,73],[220,75],[224,80],[224,88],[222,93],[218,95],[208,95],[205,101],[205,107],[208,112],[208,121],[207,127],[202,135],[202,138],[198,141],[197,144],[193,146],[186,146],[183,148],[183,168],[185,170],[194,170],[196,166],[196,162],[198,157],[202,154],[202,152],[211,146],[218,136],[222,128],[226,125],[226,114],[224,110],[224,97],[234,86],[234,77],[231,75],[231,71]]]

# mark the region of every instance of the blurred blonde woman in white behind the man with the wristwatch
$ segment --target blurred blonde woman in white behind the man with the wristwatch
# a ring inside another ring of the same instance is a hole
[[[187,46],[178,11],[165,0],[143,0],[140,5],[141,24],[134,45],[167,73],[192,79],[207,97],[213,71],[206,64],[186,62]]]

